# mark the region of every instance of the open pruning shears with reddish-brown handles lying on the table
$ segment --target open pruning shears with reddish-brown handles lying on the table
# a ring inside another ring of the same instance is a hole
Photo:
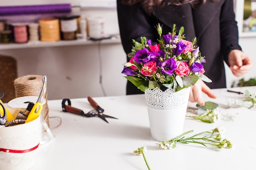
[[[70,99],[63,99],[62,100],[62,110],[63,110],[63,112],[70,112],[70,113],[74,113],[76,115],[83,115],[85,117],[99,117],[102,120],[106,121],[107,123],[108,123],[108,121],[106,120],[106,118],[117,119],[115,117],[103,114],[104,109],[101,108],[92,99],[92,97],[89,96],[87,99],[88,99],[89,103],[92,105],[92,107],[94,108],[93,110],[89,111],[88,113],[84,113],[83,110],[81,110],[79,108],[72,107]],[[67,105],[65,104],[66,102],[67,102]]]

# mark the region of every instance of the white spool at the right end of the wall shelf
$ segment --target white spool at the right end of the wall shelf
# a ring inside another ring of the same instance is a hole
[[[100,38],[104,36],[104,18],[102,17],[90,17],[88,20],[88,36],[92,38]]]

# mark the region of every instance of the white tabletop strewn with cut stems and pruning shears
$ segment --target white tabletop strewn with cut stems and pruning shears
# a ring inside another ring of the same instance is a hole
[[[256,93],[256,87],[232,88]],[[255,169],[256,158],[256,106],[228,108],[229,104],[244,99],[243,95],[229,93],[227,89],[213,90],[217,99],[209,99],[219,105],[215,123],[207,124],[186,117],[183,131],[194,130],[191,135],[225,128],[225,137],[233,144],[231,149],[204,147],[198,144],[177,144],[172,150],[158,149],[150,136],[147,107],[144,95],[93,97],[105,110],[109,124],[99,117],[83,117],[62,112],[60,100],[48,101],[49,117],[61,117],[62,123],[52,130],[55,139],[41,147],[36,165],[31,170],[147,170],[142,156],[133,151],[145,146],[146,158],[151,170],[249,170]],[[85,113],[92,110],[87,98],[71,99],[74,107]],[[195,103],[190,103],[195,108]],[[194,113],[187,113],[193,115]],[[222,115],[232,115],[233,121]],[[58,118],[49,118],[50,128],[59,124]]]

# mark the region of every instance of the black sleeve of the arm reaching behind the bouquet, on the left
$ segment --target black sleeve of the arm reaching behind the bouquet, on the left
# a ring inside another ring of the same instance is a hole
[[[156,31],[155,25],[151,24],[151,17],[147,15],[139,4],[129,6],[117,0],[117,15],[119,22],[119,31],[121,42],[126,53],[130,53],[132,39],[140,42],[140,37],[153,39],[153,33]]]

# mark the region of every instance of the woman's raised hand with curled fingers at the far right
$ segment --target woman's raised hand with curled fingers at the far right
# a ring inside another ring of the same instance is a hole
[[[236,77],[240,77],[252,68],[252,59],[240,50],[232,50],[229,53],[229,68]]]

